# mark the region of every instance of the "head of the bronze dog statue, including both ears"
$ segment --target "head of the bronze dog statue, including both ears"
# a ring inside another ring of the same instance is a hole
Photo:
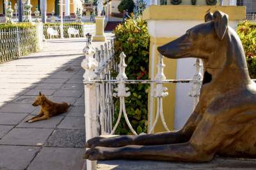
[[[228,30],[228,15],[220,11],[207,13],[205,23],[192,27],[176,40],[158,47],[167,58],[209,58],[218,50]]]

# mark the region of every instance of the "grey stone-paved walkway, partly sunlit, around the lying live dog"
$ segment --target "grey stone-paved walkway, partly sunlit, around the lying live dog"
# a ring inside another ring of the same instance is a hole
[[[42,52],[0,65],[0,169],[84,168],[85,44],[83,38],[51,40]],[[40,110],[31,105],[39,91],[72,107],[49,120],[25,123]]]

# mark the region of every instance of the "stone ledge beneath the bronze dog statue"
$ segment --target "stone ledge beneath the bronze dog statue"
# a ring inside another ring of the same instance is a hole
[[[256,169],[256,159],[216,157],[207,163],[165,162],[154,160],[104,160],[97,162],[97,170],[145,170],[145,169]]]

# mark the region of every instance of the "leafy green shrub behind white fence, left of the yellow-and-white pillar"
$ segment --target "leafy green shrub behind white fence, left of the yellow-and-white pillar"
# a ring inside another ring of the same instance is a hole
[[[128,79],[148,79],[149,38],[147,23],[140,17],[136,20],[129,19],[124,24],[119,24],[113,31],[115,40],[115,60],[119,63],[119,54],[126,55],[125,73]],[[116,77],[117,73],[111,71]],[[148,84],[127,84],[131,96],[125,98],[125,108],[132,127],[138,134],[147,132],[147,89]],[[119,99],[114,101],[114,123],[118,118]],[[116,134],[131,134],[125,123],[124,117],[120,121]]]

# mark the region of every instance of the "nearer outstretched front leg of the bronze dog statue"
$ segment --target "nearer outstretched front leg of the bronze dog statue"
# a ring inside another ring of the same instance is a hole
[[[179,162],[207,162],[214,153],[197,151],[189,143],[164,144],[157,146],[129,145],[121,148],[106,148],[97,146],[85,153],[89,160],[168,160]]]

